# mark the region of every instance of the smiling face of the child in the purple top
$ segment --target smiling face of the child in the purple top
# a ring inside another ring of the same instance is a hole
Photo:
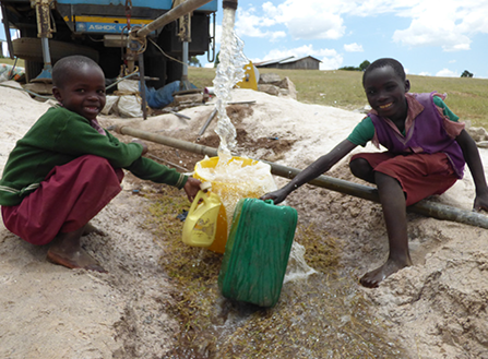
[[[392,67],[372,70],[365,79],[366,97],[379,116],[404,121],[407,112],[405,94],[408,80],[401,79]]]

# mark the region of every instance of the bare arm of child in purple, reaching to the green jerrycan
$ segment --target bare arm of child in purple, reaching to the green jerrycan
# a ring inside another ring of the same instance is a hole
[[[344,158],[344,156],[352,152],[356,146],[357,145],[355,145],[350,141],[344,140],[334,148],[332,148],[331,152],[329,152],[326,155],[319,157],[319,159],[317,159],[313,164],[303,169],[285,187],[277,191],[266,193],[261,199],[273,200],[275,204],[283,202],[286,196],[295,191],[297,188],[331,169],[332,166]]]

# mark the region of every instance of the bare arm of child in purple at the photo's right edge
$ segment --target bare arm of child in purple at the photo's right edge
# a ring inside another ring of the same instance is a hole
[[[472,136],[463,130],[456,137],[457,143],[463,149],[464,159],[473,175],[473,180],[476,187],[476,199],[474,210],[488,211],[488,187],[485,178],[485,170],[483,168],[481,158],[479,157],[478,147]]]

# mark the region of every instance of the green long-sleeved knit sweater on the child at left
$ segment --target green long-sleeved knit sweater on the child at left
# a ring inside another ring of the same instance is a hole
[[[35,191],[55,166],[83,156],[107,158],[116,168],[156,183],[181,189],[188,177],[142,157],[138,143],[119,142],[108,131],[98,133],[84,117],[62,107],[50,108],[10,153],[0,180],[0,205],[16,205]]]

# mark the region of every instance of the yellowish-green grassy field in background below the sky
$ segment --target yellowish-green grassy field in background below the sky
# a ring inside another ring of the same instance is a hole
[[[340,107],[364,108],[368,103],[362,89],[362,73],[356,71],[260,69],[260,73],[277,73],[295,84],[298,100]],[[189,80],[198,87],[212,86],[215,69],[190,68]],[[412,92],[437,91],[448,94],[445,103],[462,121],[488,128],[488,80],[466,77],[430,77],[408,75]]]

